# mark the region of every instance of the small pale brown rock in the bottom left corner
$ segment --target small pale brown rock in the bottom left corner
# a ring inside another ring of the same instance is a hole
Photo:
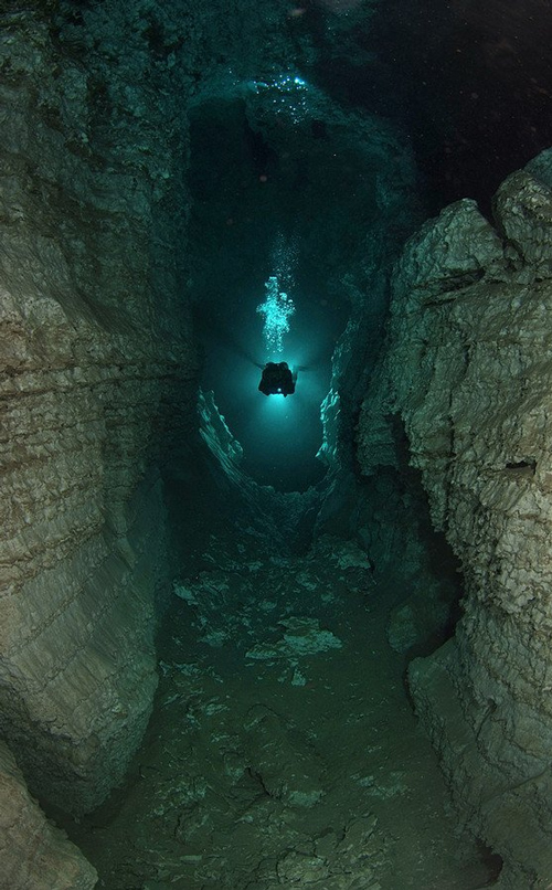
[[[29,795],[21,772],[0,742],[0,859],[2,890],[92,890],[96,870]]]

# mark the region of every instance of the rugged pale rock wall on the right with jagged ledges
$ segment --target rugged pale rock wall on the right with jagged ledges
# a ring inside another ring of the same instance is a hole
[[[465,822],[500,887],[552,876],[552,165],[509,177],[496,226],[444,210],[395,268],[389,349],[359,424],[367,475],[400,417],[466,585],[454,639],[410,671]]]

